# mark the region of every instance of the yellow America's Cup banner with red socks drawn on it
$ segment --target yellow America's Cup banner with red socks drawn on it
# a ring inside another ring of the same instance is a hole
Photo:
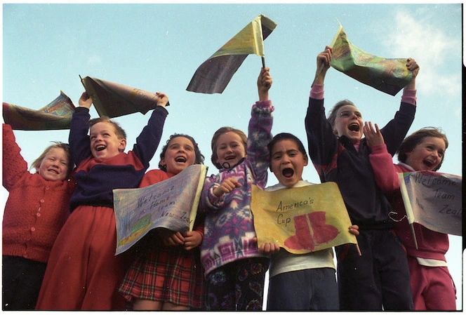
[[[344,243],[357,244],[338,185],[266,192],[253,185],[251,210],[258,246],[277,243],[293,254],[310,253]]]

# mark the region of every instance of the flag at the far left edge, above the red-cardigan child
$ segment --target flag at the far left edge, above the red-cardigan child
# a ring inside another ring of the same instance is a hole
[[[58,98],[38,110],[3,103],[4,121],[13,130],[69,129],[75,107],[72,100],[63,91],[60,91]]]

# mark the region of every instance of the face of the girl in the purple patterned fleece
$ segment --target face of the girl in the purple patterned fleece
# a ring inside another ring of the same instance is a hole
[[[234,166],[246,156],[246,149],[237,133],[229,131],[218,137],[217,156],[217,162],[227,168]]]

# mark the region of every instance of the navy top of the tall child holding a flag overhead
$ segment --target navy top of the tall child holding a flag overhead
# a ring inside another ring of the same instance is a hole
[[[380,130],[392,156],[413,123],[415,108],[401,102],[394,119]],[[361,140],[357,151],[349,138],[338,138],[326,119],[324,100],[313,98],[309,98],[305,128],[309,156],[320,180],[338,184],[352,223],[359,229],[391,228],[391,206],[375,183],[366,139]]]

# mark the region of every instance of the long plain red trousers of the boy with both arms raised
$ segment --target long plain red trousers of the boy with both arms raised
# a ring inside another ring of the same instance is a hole
[[[53,244],[36,309],[124,309],[117,290],[123,264],[115,250],[113,209],[74,209]]]

